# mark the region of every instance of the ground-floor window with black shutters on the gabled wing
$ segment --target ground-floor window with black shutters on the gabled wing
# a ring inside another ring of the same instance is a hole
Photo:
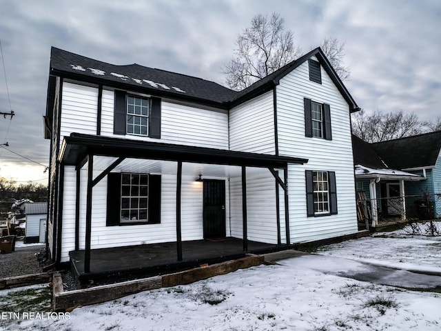
[[[337,214],[335,172],[307,170],[306,194],[308,216]]]

